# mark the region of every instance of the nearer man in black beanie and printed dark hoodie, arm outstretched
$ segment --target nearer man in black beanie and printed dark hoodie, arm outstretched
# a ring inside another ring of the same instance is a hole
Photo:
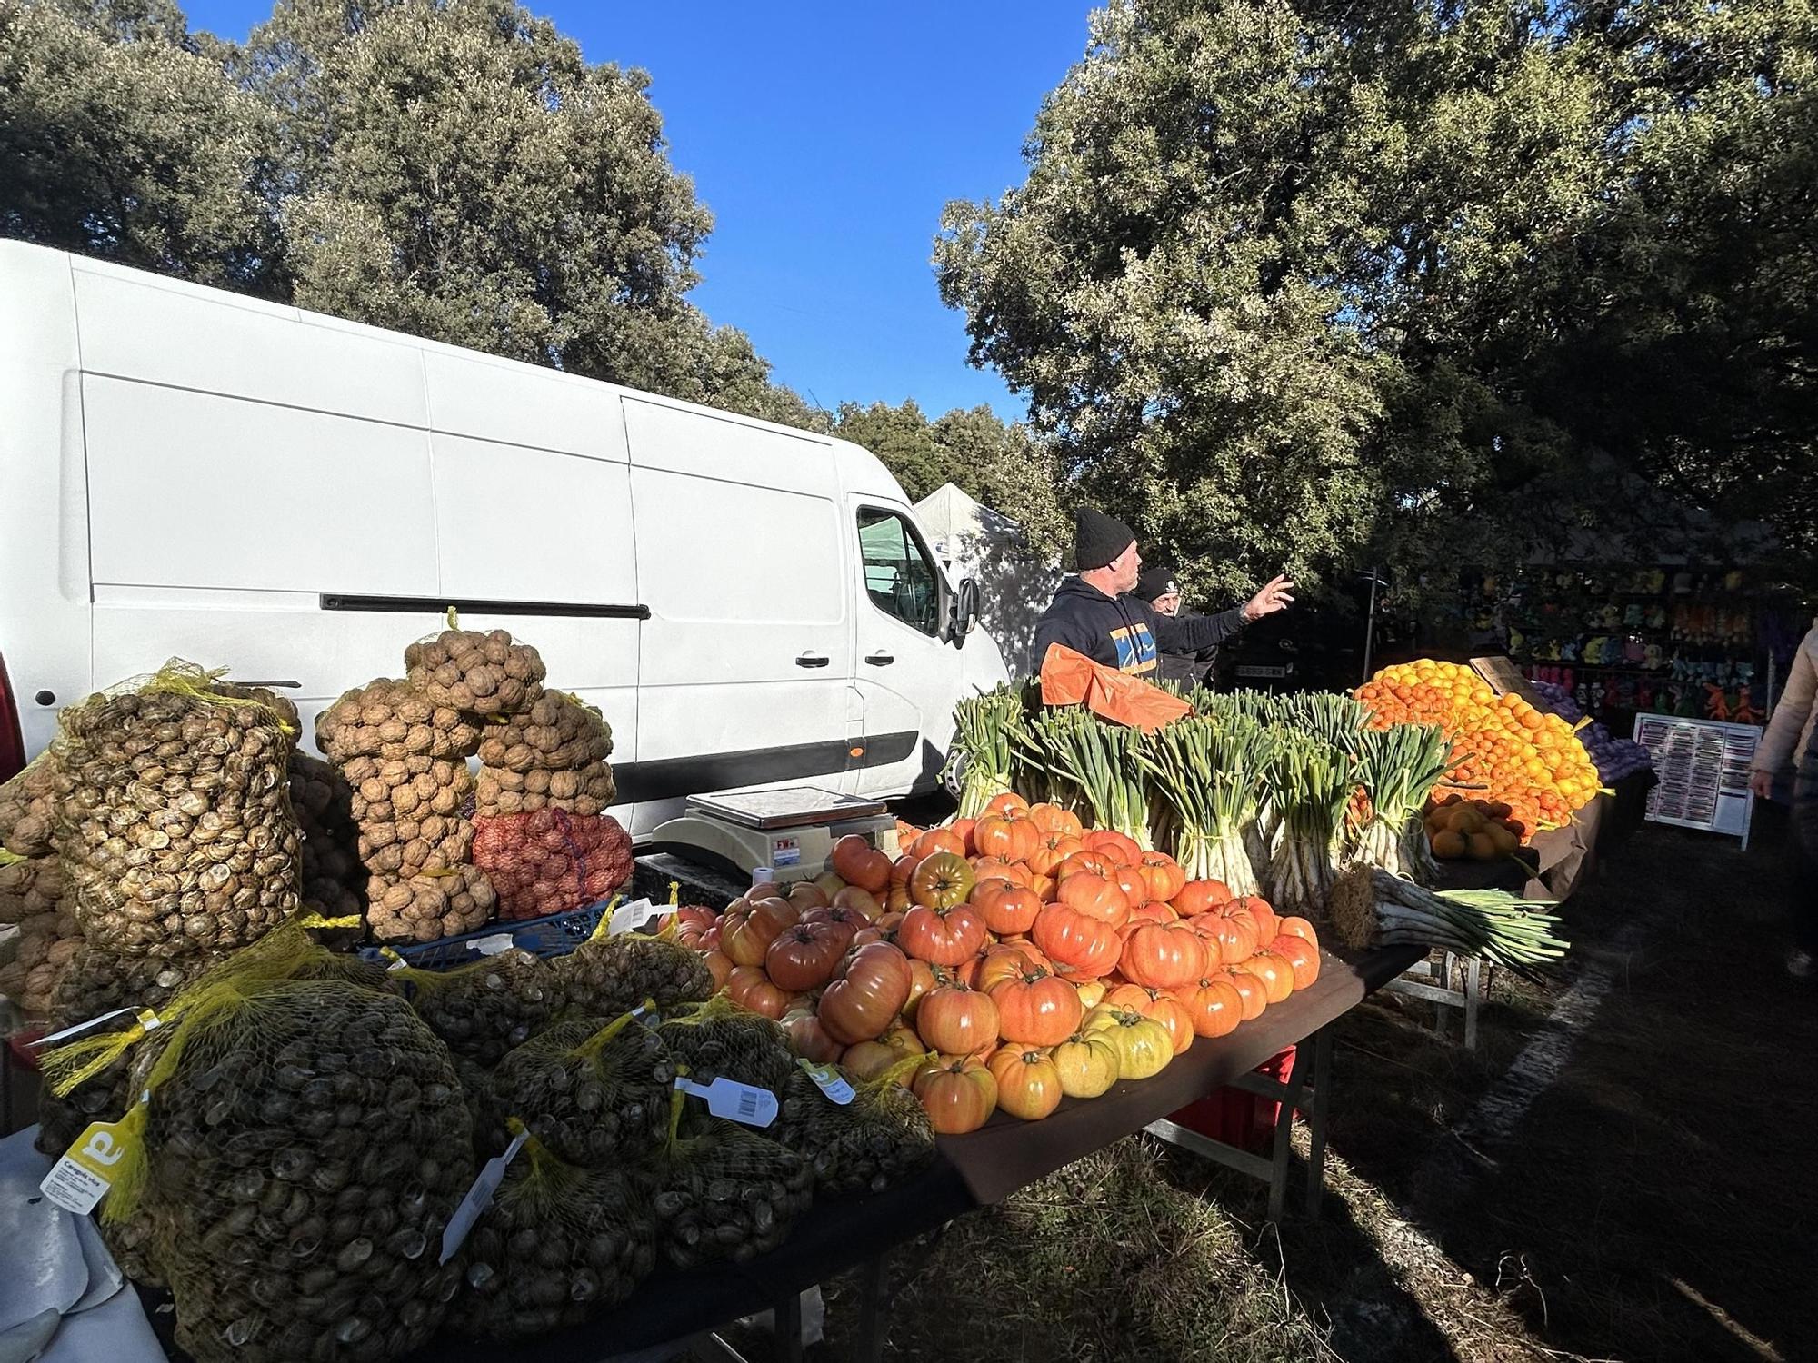
[[[1162,652],[1200,652],[1236,634],[1253,620],[1287,609],[1294,587],[1274,578],[1244,605],[1216,616],[1164,616],[1149,602],[1125,596],[1142,576],[1136,532],[1102,511],[1080,507],[1074,518],[1073,565],[1067,578],[1034,627],[1036,665],[1047,658],[1051,643],[1084,652],[1094,663],[1136,672],[1154,680],[1156,649]]]

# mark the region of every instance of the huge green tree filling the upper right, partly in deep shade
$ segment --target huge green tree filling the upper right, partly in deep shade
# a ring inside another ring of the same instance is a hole
[[[1813,53],[1794,0],[1120,0],[942,296],[1198,592],[1507,563],[1625,474],[1811,534]]]

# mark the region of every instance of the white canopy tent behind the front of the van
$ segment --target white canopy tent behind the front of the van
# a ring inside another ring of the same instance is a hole
[[[1060,585],[1060,567],[1042,562],[1016,522],[953,483],[942,483],[914,509],[953,578],[978,582],[980,623],[1004,651],[1011,676],[1033,672],[1034,622]]]

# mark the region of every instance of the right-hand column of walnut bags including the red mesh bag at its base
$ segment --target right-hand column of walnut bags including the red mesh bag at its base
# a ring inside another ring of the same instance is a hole
[[[613,731],[593,705],[544,691],[480,740],[473,860],[504,918],[604,900],[631,878],[631,836],[604,811],[618,794]]]

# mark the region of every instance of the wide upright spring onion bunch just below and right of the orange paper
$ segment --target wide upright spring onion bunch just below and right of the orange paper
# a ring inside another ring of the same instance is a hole
[[[1138,763],[1167,812],[1173,854],[1187,880],[1220,880],[1233,894],[1256,894],[1244,834],[1256,820],[1273,747],[1273,732],[1240,714],[1176,720],[1144,743]]]

